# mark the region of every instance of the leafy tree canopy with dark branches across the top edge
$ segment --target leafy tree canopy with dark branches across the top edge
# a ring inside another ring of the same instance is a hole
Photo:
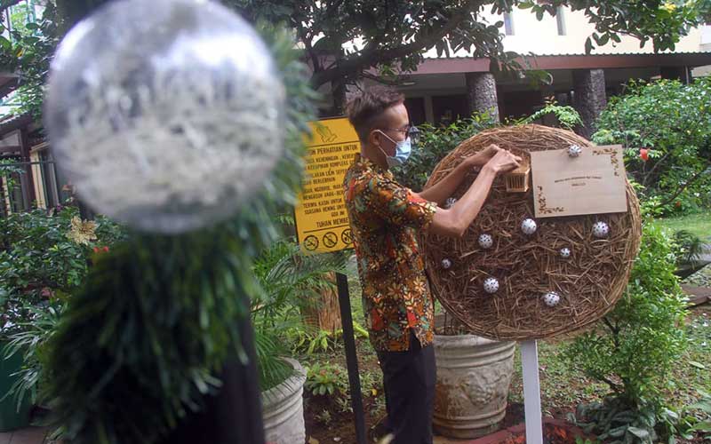
[[[485,19],[528,10],[541,20],[567,6],[583,12],[595,26],[586,52],[620,36],[634,36],[655,51],[674,50],[692,27],[707,20],[711,0],[221,0],[252,22],[284,24],[293,30],[304,60],[313,69],[311,84],[331,83],[338,89],[363,77],[378,80],[414,70],[423,54],[466,50],[475,58],[491,59],[492,69],[523,69],[518,54],[502,44],[502,21]],[[16,0],[0,0],[0,10]],[[55,0],[32,36],[0,37],[0,63],[5,69],[32,73],[26,90],[41,91],[54,45],[67,29],[106,0]],[[54,7],[56,4],[56,8]],[[3,29],[0,29],[2,31]],[[371,74],[377,72],[377,75]],[[38,90],[39,89],[39,90]],[[40,98],[41,94],[30,94]],[[35,107],[36,103],[33,102]]]

